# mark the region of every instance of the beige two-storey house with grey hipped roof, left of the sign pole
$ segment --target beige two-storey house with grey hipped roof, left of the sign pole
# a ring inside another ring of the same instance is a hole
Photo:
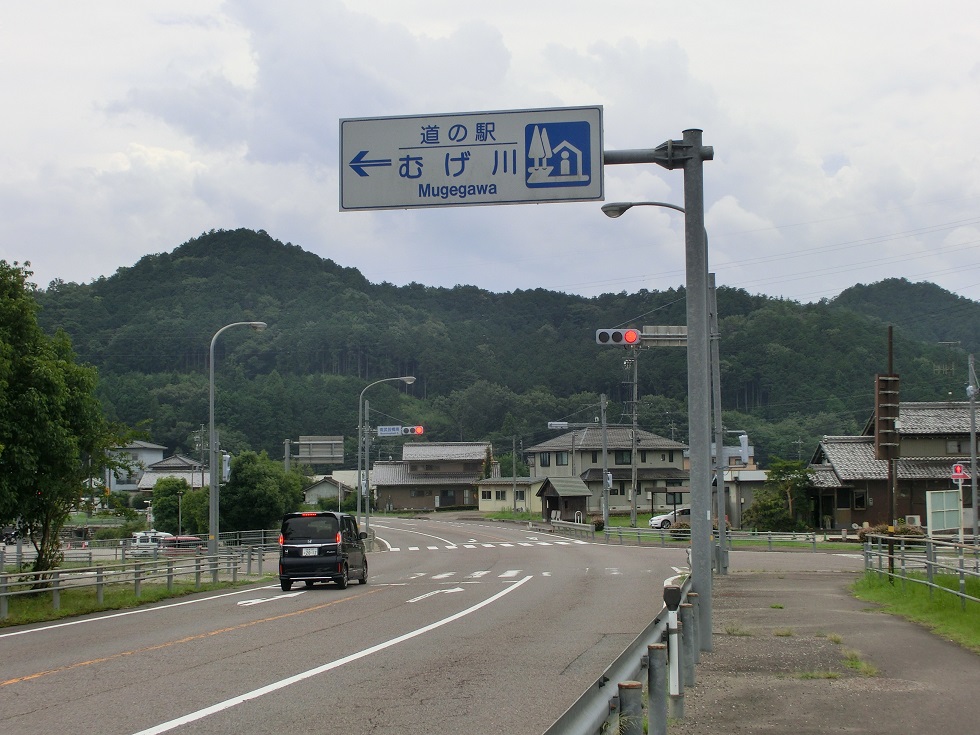
[[[609,511],[630,510],[633,484],[631,429],[606,427],[606,463],[612,475]],[[574,477],[590,492],[586,512],[602,512],[602,428],[596,425],[575,429],[554,439],[528,447],[531,474],[554,480]],[[637,505],[651,512],[675,502],[687,504],[690,473],[685,468],[687,446],[649,431],[636,432]]]

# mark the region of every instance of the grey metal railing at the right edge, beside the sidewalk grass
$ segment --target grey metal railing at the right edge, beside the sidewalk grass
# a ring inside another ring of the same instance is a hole
[[[864,544],[864,569],[876,572],[904,585],[922,584],[960,598],[966,609],[967,601],[980,603],[980,598],[966,592],[966,580],[980,580],[980,545],[941,541],[922,536],[869,535]],[[955,579],[957,589],[937,582],[937,577]]]

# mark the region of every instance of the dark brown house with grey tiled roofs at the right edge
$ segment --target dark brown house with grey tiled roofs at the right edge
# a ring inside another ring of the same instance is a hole
[[[861,436],[825,436],[820,441],[809,465],[810,522],[815,527],[852,528],[907,516],[925,524],[926,493],[955,489],[951,467],[969,464],[970,458],[969,403],[899,402],[896,459],[876,458],[875,432],[881,426],[872,416]],[[964,493],[964,501],[972,502],[969,495]],[[964,514],[967,525],[972,525],[972,510]]]

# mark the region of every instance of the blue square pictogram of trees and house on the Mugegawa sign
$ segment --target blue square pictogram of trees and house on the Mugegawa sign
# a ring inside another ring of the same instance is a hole
[[[592,181],[591,141],[592,129],[585,120],[526,125],[527,187],[588,186]]]

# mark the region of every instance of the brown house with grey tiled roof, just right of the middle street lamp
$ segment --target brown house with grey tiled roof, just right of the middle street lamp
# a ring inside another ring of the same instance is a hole
[[[492,449],[488,442],[408,442],[400,462],[375,462],[371,486],[377,507],[435,510],[478,504],[476,483]],[[492,462],[491,477],[500,475]]]

